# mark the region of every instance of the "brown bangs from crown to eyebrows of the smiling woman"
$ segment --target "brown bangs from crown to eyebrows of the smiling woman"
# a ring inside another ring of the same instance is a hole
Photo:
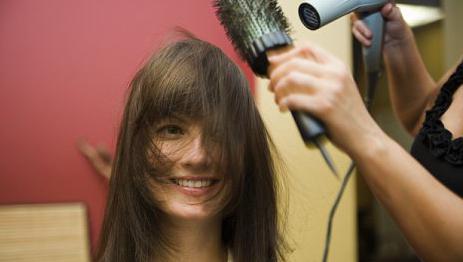
[[[191,43],[183,46],[180,42],[168,47],[162,56],[170,62],[153,64],[154,81],[145,86],[147,121],[172,116],[201,122],[230,119],[223,119],[223,113],[231,113],[227,110],[228,96],[248,86],[246,81],[240,81],[241,72],[218,48],[205,48],[203,44],[192,48]]]

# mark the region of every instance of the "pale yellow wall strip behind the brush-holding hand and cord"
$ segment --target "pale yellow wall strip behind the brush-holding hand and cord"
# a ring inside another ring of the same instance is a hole
[[[313,32],[299,22],[297,7],[300,1],[280,1],[293,28],[297,41],[310,40],[351,64],[351,35],[347,18],[338,20]],[[256,93],[259,108],[270,129],[287,170],[285,176],[289,193],[288,234],[294,252],[289,261],[321,261],[328,213],[339,189],[336,180],[315,149],[305,148],[289,113],[282,114],[267,91],[267,81],[258,79]],[[344,173],[350,160],[328,144],[337,167]],[[356,261],[356,204],[355,178],[345,192],[334,222],[329,261]]]

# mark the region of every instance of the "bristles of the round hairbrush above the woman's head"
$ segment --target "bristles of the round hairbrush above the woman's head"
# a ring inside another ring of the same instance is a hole
[[[215,0],[214,7],[228,38],[248,62],[256,39],[273,32],[289,34],[289,24],[275,0]]]

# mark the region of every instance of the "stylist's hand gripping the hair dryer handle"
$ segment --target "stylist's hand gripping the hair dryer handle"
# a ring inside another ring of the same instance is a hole
[[[400,47],[406,44],[407,41],[413,39],[413,33],[408,27],[407,23],[402,17],[400,9],[393,3],[386,4],[381,9],[381,14],[384,17],[384,50]],[[363,45],[370,46],[373,33],[371,30],[359,19],[357,14],[351,15],[352,20],[352,33],[354,37]]]

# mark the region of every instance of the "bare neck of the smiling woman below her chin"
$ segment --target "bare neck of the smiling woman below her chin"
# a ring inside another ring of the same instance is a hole
[[[175,245],[175,251],[163,261],[227,261],[227,249],[221,239],[221,219],[207,221],[168,219],[168,221],[164,232]]]

